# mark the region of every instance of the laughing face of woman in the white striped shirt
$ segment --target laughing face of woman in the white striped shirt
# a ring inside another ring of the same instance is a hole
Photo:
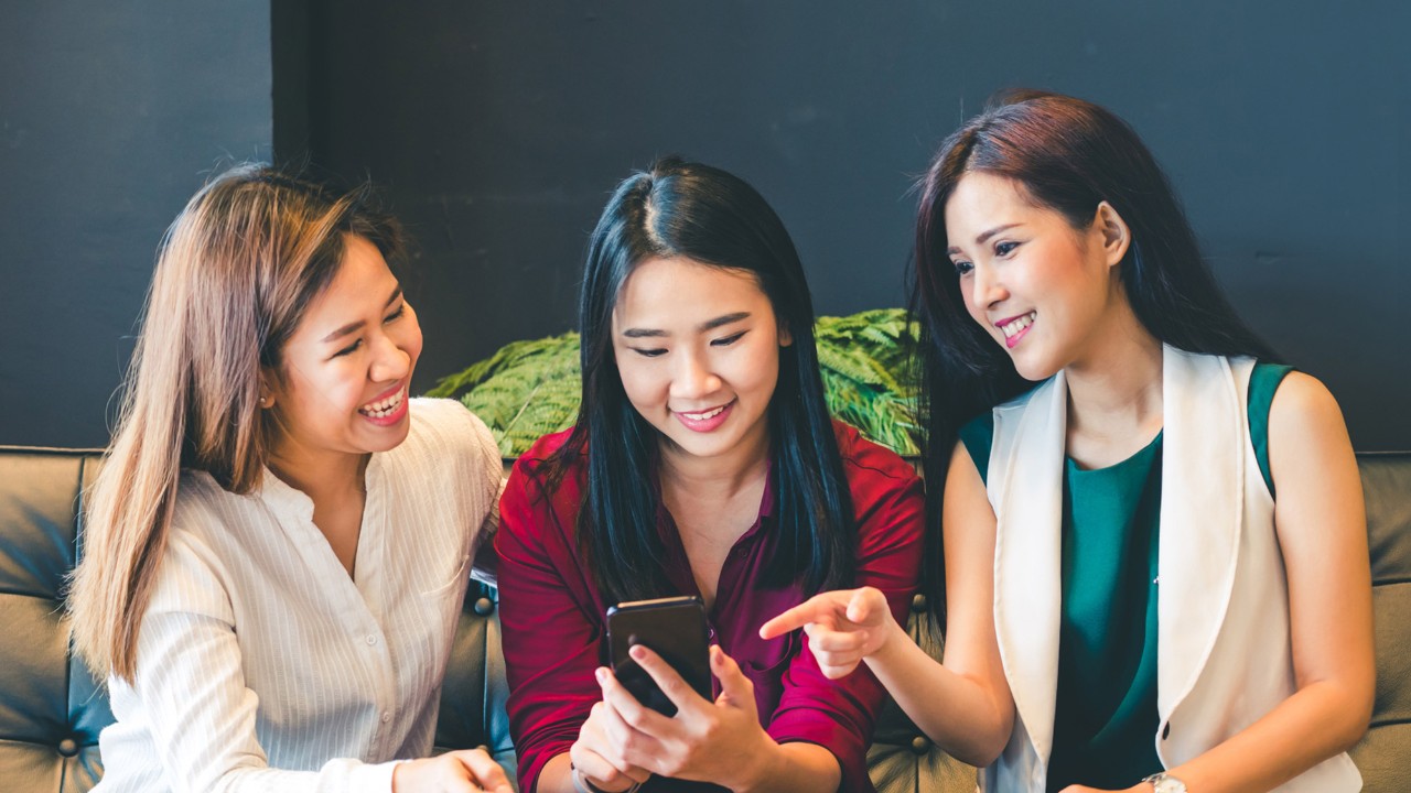
[[[343,262],[309,303],[261,394],[275,411],[275,460],[385,452],[406,437],[422,330],[375,246],[347,236]]]

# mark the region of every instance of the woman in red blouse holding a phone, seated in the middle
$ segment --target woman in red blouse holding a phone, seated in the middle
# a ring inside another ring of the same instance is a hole
[[[626,179],[593,233],[583,404],[526,452],[501,501],[509,721],[526,790],[872,790],[871,674],[830,682],[807,639],[759,625],[869,586],[897,617],[924,498],[896,454],[832,422],[789,234],[744,181],[667,159]],[[634,659],[667,718],[607,669],[608,607],[698,595],[710,701]]]

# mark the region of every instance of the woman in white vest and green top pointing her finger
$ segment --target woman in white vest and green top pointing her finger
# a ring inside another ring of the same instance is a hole
[[[1136,133],[1009,95],[943,144],[916,238],[944,663],[868,590],[762,634],[866,663],[985,790],[1359,790],[1371,588],[1342,415],[1219,295]]]

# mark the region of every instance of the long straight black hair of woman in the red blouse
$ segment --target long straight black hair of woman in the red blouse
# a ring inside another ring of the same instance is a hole
[[[793,240],[742,179],[679,158],[624,181],[593,230],[579,299],[583,402],[569,440],[549,459],[545,491],[587,456],[579,509],[580,550],[608,603],[670,591],[658,533],[659,432],[622,389],[612,350],[612,309],[632,270],[650,258],[687,258],[749,272],[793,343],[779,349],[769,402],[769,456],[779,557],[769,587],[811,593],[852,583],[856,521],[824,401],[813,336],[813,299]]]

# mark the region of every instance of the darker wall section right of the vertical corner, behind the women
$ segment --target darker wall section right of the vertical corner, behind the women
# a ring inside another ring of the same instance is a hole
[[[1171,174],[1243,315],[1411,447],[1405,3],[315,4],[316,161],[422,246],[419,385],[564,330],[612,185],[682,152],[752,181],[823,313],[899,305],[913,175],[996,89],[1108,104]]]

